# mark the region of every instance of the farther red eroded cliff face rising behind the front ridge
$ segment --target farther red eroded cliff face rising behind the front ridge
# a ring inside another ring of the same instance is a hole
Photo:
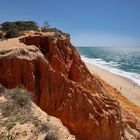
[[[102,92],[101,85],[88,71],[80,55],[70,43],[70,38],[53,38],[43,35],[20,39],[26,45],[35,45],[45,56],[49,65],[67,79],[74,81],[93,92]]]

